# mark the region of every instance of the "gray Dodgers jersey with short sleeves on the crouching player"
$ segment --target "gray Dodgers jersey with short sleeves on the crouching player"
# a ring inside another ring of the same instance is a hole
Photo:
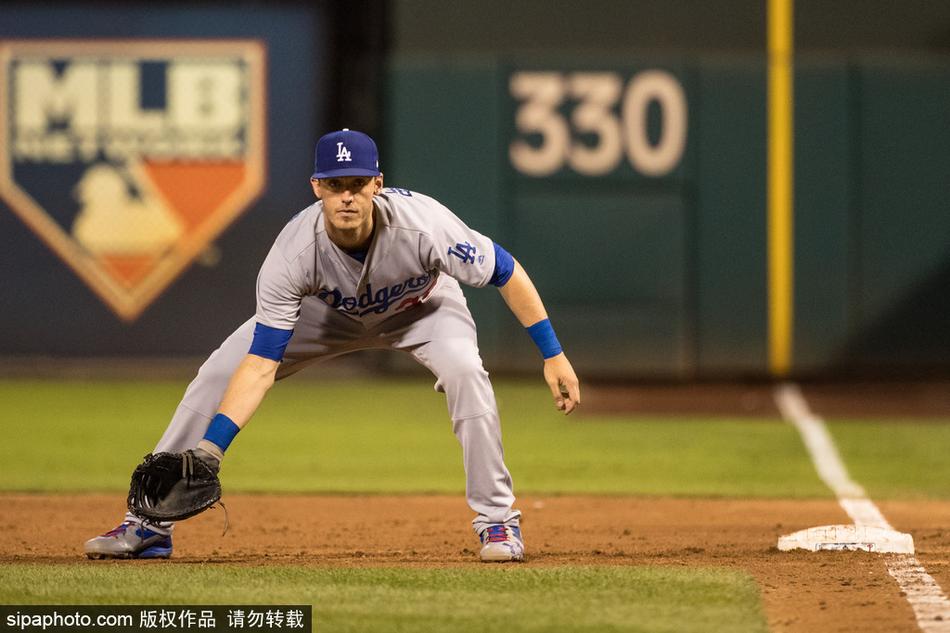
[[[258,323],[294,329],[305,296],[316,296],[371,328],[437,293],[448,275],[488,284],[493,242],[436,200],[406,189],[376,196],[372,243],[361,263],[330,241],[323,203],[297,214],[281,231],[257,279]]]

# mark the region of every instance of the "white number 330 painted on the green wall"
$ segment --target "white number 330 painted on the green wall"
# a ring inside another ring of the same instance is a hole
[[[527,176],[550,176],[565,166],[585,176],[613,172],[626,155],[633,169],[660,177],[673,171],[686,148],[686,94],[663,70],[634,75],[626,87],[616,72],[516,72],[509,90],[519,105],[515,128],[522,135],[508,148],[512,166]],[[565,102],[573,101],[569,120]],[[619,115],[617,104],[620,104]],[[661,114],[658,138],[651,141],[648,111]],[[579,136],[593,137],[593,144]],[[540,137],[540,143],[525,137]]]

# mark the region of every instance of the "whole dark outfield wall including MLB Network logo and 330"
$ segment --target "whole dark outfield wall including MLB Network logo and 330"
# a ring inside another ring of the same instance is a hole
[[[524,263],[583,374],[767,375],[765,3],[549,6],[4,5],[0,355],[208,353],[348,126]],[[792,369],[947,372],[950,9],[863,6],[796,6]],[[190,218],[170,250],[81,239],[97,166]],[[536,369],[468,294],[489,366]]]

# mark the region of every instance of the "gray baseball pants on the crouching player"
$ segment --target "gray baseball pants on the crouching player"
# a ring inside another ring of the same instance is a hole
[[[225,388],[247,354],[255,320],[241,325],[198,370],[155,451],[193,448],[217,413]],[[445,393],[452,430],[462,446],[465,491],[476,534],[493,523],[518,525],[521,513],[505,466],[501,423],[488,372],[478,353],[475,322],[458,282],[441,278],[425,303],[367,329],[361,322],[305,297],[277,380],[304,367],[364,349],[406,352],[436,377]],[[319,420],[315,421],[319,424]]]

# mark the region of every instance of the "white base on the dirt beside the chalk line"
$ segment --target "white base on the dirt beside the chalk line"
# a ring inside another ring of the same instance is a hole
[[[805,549],[810,552],[845,550],[913,554],[914,537],[867,525],[823,525],[779,537],[778,548],[783,552]]]

